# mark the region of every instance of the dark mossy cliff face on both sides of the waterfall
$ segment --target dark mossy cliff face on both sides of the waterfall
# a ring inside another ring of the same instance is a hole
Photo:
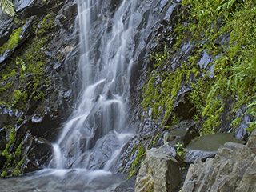
[[[106,14],[118,6],[114,0],[102,3]],[[254,11],[254,2],[239,3],[241,10],[214,7],[218,16],[209,12],[204,18],[196,5],[159,0],[142,8],[143,17],[134,16],[142,34],[135,35],[142,51],[134,55],[130,78],[131,124],[138,135],[124,147],[114,171],[137,174],[146,150],[162,145],[166,135],[166,142],[183,146],[199,134],[227,131],[246,141],[255,124],[254,38],[236,36],[238,25],[226,14],[238,19],[242,11]],[[50,142],[79,90],[75,1],[14,1],[14,6],[15,17],[2,14],[0,24],[2,177],[50,161]],[[246,19],[254,22],[254,15]],[[248,32],[239,22],[244,34],[254,34],[253,26]]]

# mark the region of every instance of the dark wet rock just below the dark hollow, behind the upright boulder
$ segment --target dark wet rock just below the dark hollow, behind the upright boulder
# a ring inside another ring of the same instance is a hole
[[[185,120],[174,126],[170,126],[167,131],[165,142],[169,142],[171,145],[179,142],[182,146],[187,146],[192,139],[199,136],[196,122],[193,120]]]

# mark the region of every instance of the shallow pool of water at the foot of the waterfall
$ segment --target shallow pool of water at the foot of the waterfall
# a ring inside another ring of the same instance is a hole
[[[1,192],[110,192],[126,181],[122,174],[105,170],[39,170],[22,177],[0,180]]]

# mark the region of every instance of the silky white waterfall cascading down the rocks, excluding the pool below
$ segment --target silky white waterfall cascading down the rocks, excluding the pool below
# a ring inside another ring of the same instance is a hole
[[[127,98],[138,1],[108,5],[104,10],[100,0],[78,0],[82,90],[76,110],[53,145],[50,167],[110,170],[134,134]]]

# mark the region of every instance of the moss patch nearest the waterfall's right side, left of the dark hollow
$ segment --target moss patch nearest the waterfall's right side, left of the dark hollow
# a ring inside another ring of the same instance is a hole
[[[163,63],[169,58],[166,58]],[[163,64],[164,65],[164,64]],[[159,66],[161,67],[161,66]],[[194,67],[194,73],[196,73]],[[174,102],[182,82],[188,82],[190,76],[190,66],[183,63],[183,66],[174,71],[167,73],[160,73],[154,70],[150,74],[150,80],[147,83],[143,94],[142,108],[143,110],[150,110],[150,116],[153,120],[162,118],[162,124],[166,122],[174,107]],[[175,116],[174,116],[175,117]],[[177,123],[177,118],[174,123]]]

